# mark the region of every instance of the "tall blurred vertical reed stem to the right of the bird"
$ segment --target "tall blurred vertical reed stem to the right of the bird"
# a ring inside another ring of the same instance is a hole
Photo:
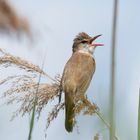
[[[110,140],[115,136],[115,74],[116,74],[116,34],[117,34],[118,0],[114,0],[113,26],[112,26],[112,64],[110,86]]]

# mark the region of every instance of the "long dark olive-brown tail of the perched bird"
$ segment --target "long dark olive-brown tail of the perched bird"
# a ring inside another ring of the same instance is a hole
[[[72,132],[74,126],[74,99],[72,95],[65,94],[65,128]]]

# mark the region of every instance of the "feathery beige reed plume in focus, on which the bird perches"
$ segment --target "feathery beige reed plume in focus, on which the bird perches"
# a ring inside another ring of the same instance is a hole
[[[18,69],[26,71],[23,75],[12,75],[5,79],[0,80],[0,86],[5,86],[6,84],[11,84],[8,88],[5,88],[1,98],[6,99],[6,104],[19,103],[20,107],[16,110],[12,116],[12,119],[18,116],[24,116],[25,114],[30,114],[33,109],[34,99],[36,98],[36,115],[39,119],[40,113],[43,108],[46,107],[48,102],[58,99],[58,103],[54,105],[52,110],[48,114],[47,118],[47,128],[50,123],[57,117],[60,110],[64,109],[63,99],[59,102],[60,97],[60,76],[51,78],[46,72],[44,72],[38,66],[29,63],[21,59],[20,57],[15,57],[4,50],[0,49],[0,66],[3,68],[17,67]],[[38,77],[41,76],[52,81],[49,83],[38,84]],[[37,90],[38,89],[38,90]],[[38,91],[36,93],[36,91]],[[77,99],[77,104],[75,106],[76,115],[83,113],[85,115],[92,115],[97,111],[96,105],[89,102],[86,97],[79,97]]]

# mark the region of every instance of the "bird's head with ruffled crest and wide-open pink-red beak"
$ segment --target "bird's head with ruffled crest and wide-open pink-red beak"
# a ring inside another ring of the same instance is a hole
[[[93,54],[97,46],[103,46],[103,44],[95,44],[94,41],[100,37],[97,35],[95,37],[90,37],[88,34],[82,32],[79,33],[74,39],[73,43],[73,53],[79,50]]]

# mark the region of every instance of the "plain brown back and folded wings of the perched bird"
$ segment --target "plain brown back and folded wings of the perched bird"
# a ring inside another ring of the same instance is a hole
[[[75,52],[65,65],[62,76],[64,92],[85,92],[95,71],[95,60],[84,53]]]

